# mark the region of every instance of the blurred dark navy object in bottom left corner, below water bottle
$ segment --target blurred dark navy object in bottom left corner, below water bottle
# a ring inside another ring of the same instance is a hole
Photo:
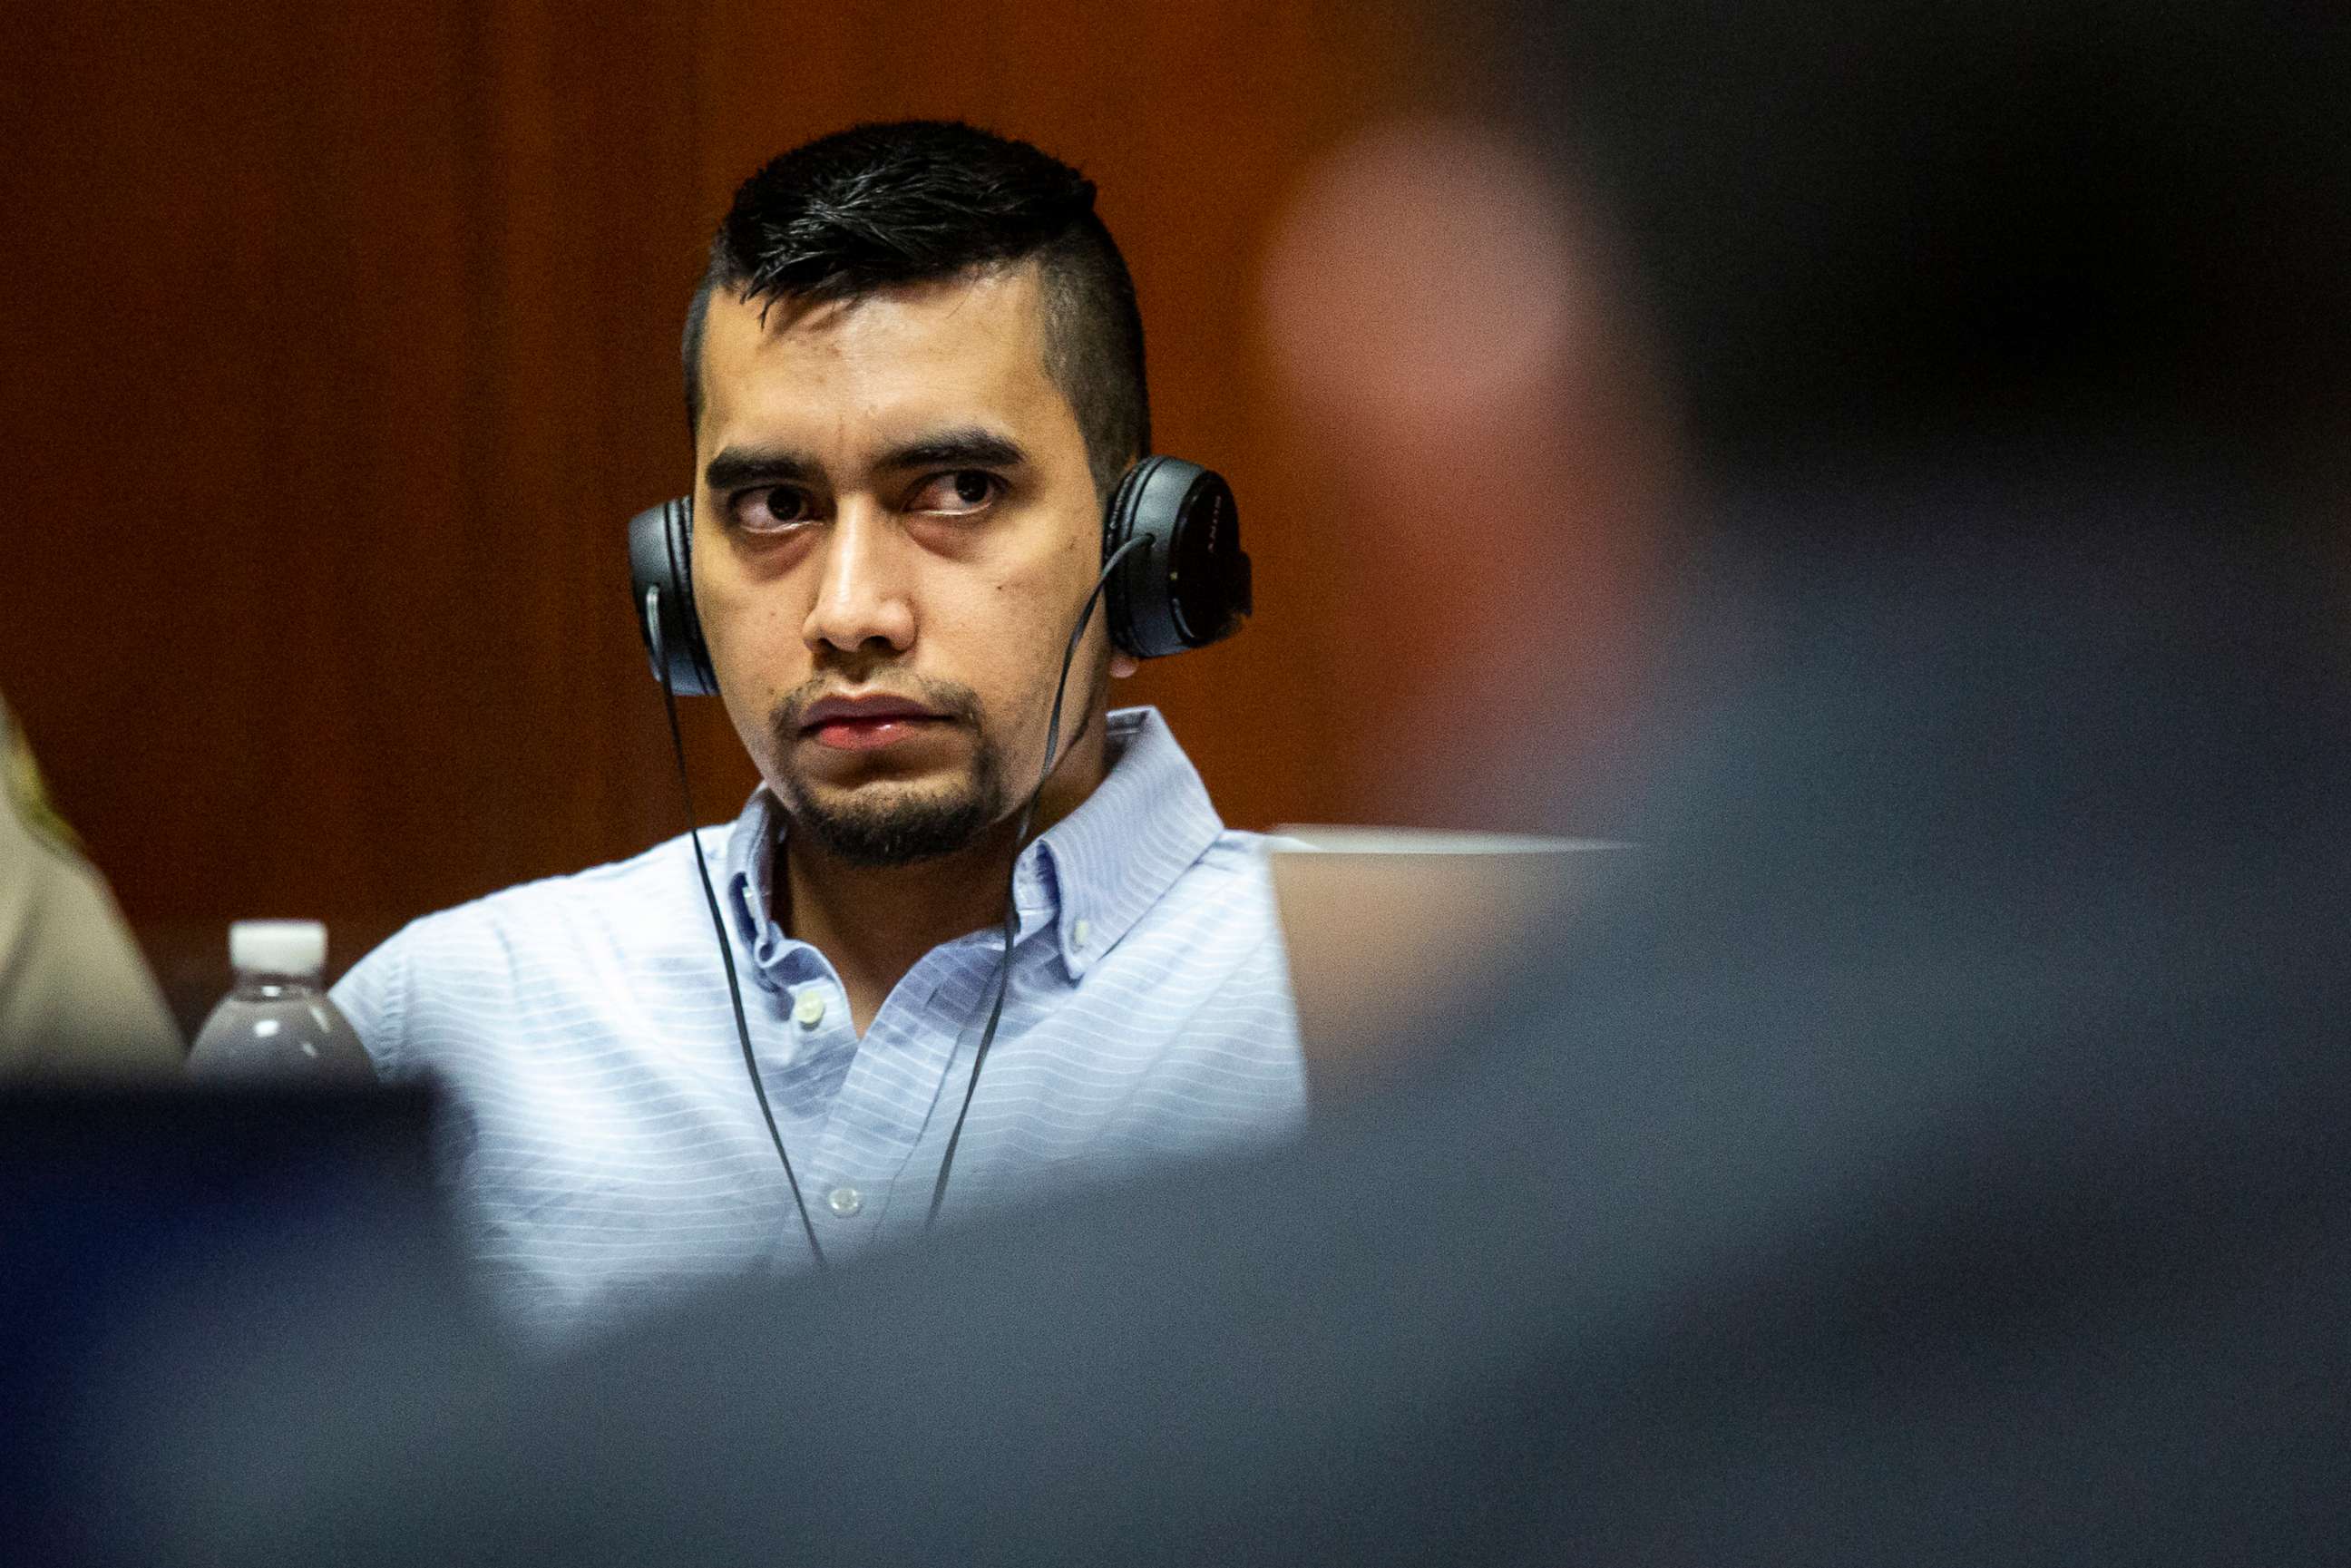
[[[110,1540],[120,1521],[103,1490],[87,1495],[94,1455],[122,1429],[167,1427],[183,1394],[209,1410],[289,1354],[360,1375],[369,1324],[395,1305],[433,1316],[407,1333],[473,1328],[430,1112],[418,1088],[0,1093],[7,1561],[75,1561]],[[364,1420],[371,1401],[303,1413]],[[289,1458],[254,1441],[205,1462]]]

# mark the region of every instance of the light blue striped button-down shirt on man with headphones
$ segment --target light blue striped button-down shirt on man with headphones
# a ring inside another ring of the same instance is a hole
[[[1150,708],[1016,867],[1004,1023],[940,1222],[1072,1175],[1288,1133],[1305,1067],[1255,835],[1227,832]],[[1004,943],[933,947],[858,1039],[832,964],[771,914],[783,811],[703,832],[776,1126],[830,1260],[922,1232]],[[569,1331],[698,1276],[804,1267],[684,835],[418,919],[334,1001],[386,1077],[437,1077],[442,1157],[491,1288]]]

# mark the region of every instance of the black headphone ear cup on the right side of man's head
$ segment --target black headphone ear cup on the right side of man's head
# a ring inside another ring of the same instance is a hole
[[[1126,470],[1103,515],[1103,559],[1133,538],[1105,590],[1110,639],[1136,658],[1223,642],[1251,614],[1241,515],[1225,477],[1152,456]]]

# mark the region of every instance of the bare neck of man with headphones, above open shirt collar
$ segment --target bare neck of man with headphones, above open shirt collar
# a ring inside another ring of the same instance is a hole
[[[1103,719],[1096,715],[1053,766],[1027,837],[1077,811],[1107,771]],[[1025,792],[1016,797],[1025,799]],[[832,961],[858,1034],[926,952],[1004,924],[1004,889],[1027,842],[1016,839],[1018,827],[1016,804],[964,849],[912,865],[853,865],[811,835],[783,837],[776,922]]]

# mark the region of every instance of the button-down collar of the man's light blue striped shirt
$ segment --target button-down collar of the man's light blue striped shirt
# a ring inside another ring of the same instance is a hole
[[[1051,924],[1072,980],[1133,931],[1225,830],[1157,708],[1112,710],[1107,750],[1100,788],[1013,865],[1016,940]],[[762,785],[726,842],[726,903],[762,973],[785,947],[799,947],[771,917],[783,827],[783,804]]]

